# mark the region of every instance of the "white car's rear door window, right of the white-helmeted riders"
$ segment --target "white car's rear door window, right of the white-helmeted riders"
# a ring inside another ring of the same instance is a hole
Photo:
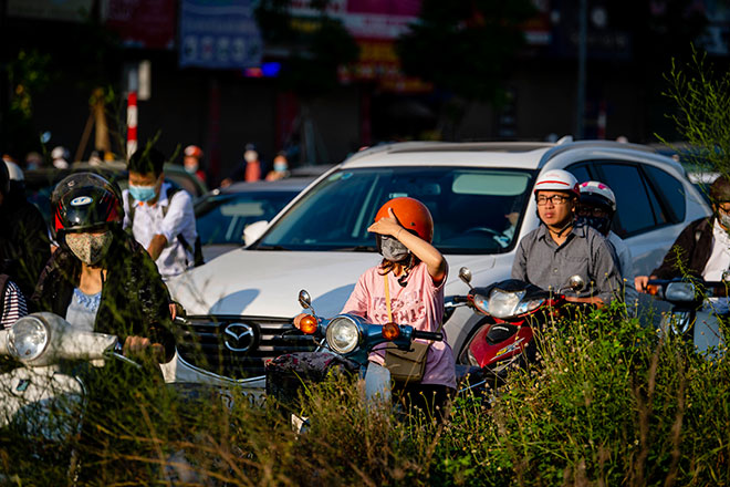
[[[628,237],[657,225],[647,188],[638,167],[629,164],[598,163],[603,182],[616,195],[615,231]]]

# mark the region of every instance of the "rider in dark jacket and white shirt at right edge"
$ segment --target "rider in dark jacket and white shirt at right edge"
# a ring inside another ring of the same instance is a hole
[[[646,292],[649,279],[672,279],[686,272],[706,281],[720,281],[730,268],[730,177],[722,175],[710,186],[712,217],[689,224],[677,237],[651,276],[637,276],[636,289]]]

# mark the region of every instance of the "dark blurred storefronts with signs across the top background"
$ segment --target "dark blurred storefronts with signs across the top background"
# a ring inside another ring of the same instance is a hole
[[[396,139],[655,142],[672,59],[727,70],[729,32],[721,0],[0,0],[0,151],[123,157],[129,92],[139,141],[200,146],[212,180],[247,143],[298,166]]]

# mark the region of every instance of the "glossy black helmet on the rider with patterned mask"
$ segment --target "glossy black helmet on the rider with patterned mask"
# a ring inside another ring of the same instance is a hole
[[[63,244],[69,231],[103,230],[122,225],[119,188],[94,173],[76,173],[61,180],[51,195],[53,232]]]

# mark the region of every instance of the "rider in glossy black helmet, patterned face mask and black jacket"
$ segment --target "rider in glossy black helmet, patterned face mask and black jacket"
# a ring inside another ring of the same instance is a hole
[[[170,359],[167,288],[149,255],[122,230],[119,189],[96,174],[77,173],[59,183],[51,205],[61,248],[41,273],[35,311],[115,334],[125,354],[152,351],[157,361]]]

